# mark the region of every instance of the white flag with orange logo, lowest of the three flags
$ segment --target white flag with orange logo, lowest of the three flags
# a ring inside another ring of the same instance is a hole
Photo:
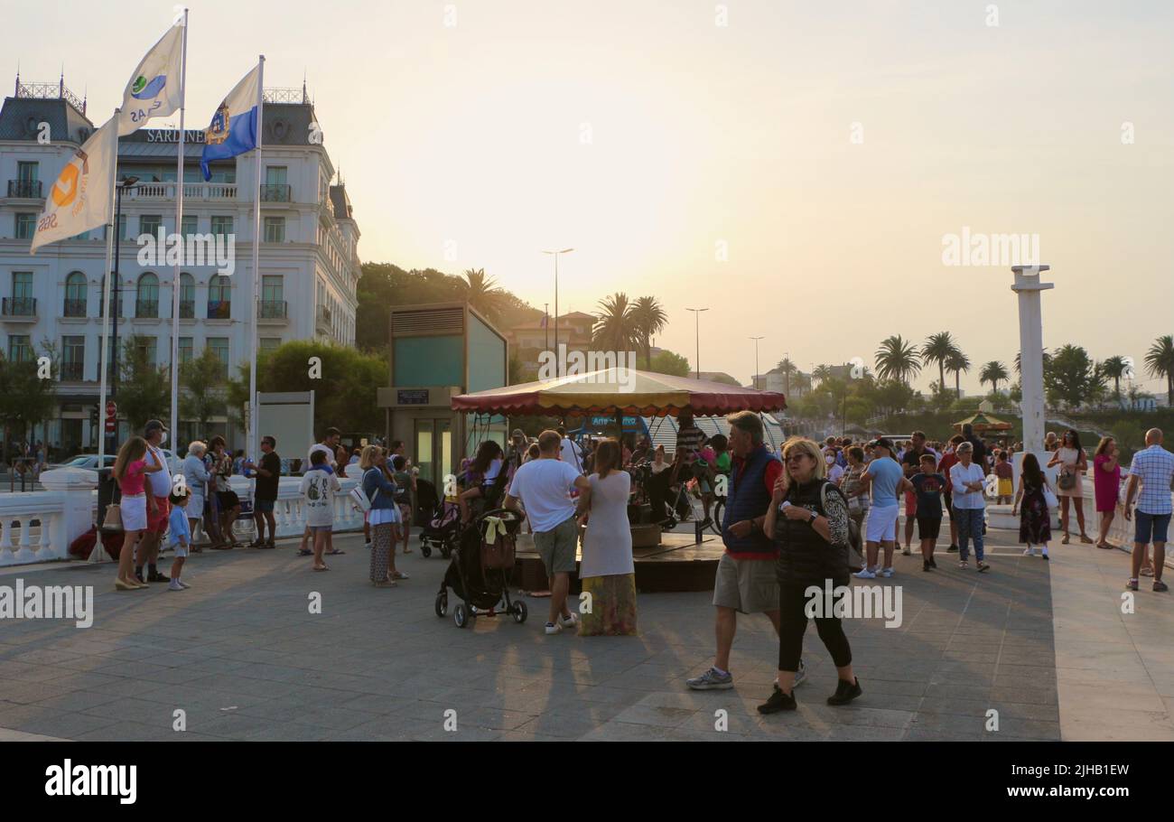
[[[119,124],[114,115],[74,153],[49,187],[29,254],[36,254],[36,249],[47,243],[68,240],[110,222],[114,195],[110,184],[117,151]]]

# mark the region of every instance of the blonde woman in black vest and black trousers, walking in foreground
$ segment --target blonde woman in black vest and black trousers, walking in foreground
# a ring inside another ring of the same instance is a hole
[[[792,437],[783,445],[783,473],[775,484],[774,497],[763,531],[778,545],[778,679],[763,714],[795,710],[795,672],[803,651],[807,631],[807,588],[824,591],[848,586],[848,505],[843,494],[824,478],[824,459],[819,446],[810,439]],[[825,487],[826,486],[826,487]],[[825,593],[815,627],[831,653],[839,674],[836,693],[828,705],[846,705],[861,695],[861,683],[852,673],[852,651],[839,619],[832,614],[834,597]]]

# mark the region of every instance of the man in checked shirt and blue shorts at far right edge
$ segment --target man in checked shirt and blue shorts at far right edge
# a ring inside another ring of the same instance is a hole
[[[1125,518],[1131,519],[1129,506],[1141,485],[1138,497],[1138,521],[1133,533],[1133,577],[1126,584],[1129,591],[1138,589],[1138,574],[1146,557],[1146,544],[1154,543],[1154,591],[1168,591],[1162,581],[1166,562],[1166,537],[1170,524],[1170,480],[1174,478],[1174,454],[1162,447],[1160,429],[1146,431],[1146,449],[1133,456],[1129,466],[1129,485],[1125,491]]]

